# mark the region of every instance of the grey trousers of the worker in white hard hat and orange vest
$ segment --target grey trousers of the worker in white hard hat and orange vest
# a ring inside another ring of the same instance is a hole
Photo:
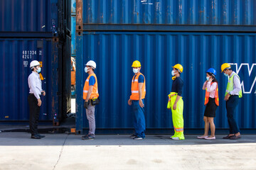
[[[92,103],[90,103],[88,108],[86,109],[86,117],[89,121],[88,135],[95,135],[95,106],[92,106]]]

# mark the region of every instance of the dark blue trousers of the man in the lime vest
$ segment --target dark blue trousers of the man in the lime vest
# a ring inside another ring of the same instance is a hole
[[[235,134],[240,132],[238,123],[235,121],[235,108],[238,106],[239,96],[230,96],[228,101],[226,101],[228,125],[230,127],[230,134]]]

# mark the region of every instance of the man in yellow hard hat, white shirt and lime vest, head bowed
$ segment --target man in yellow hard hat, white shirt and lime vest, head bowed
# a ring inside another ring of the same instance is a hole
[[[223,139],[238,140],[241,135],[238,123],[235,120],[235,108],[238,106],[239,98],[242,97],[240,77],[231,69],[228,63],[221,65],[221,72],[224,73],[225,77],[228,77],[224,100],[226,101],[228,125],[230,127],[229,135],[223,137]]]

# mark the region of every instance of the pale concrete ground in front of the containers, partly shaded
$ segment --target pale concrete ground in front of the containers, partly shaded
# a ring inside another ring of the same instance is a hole
[[[31,140],[27,132],[0,132],[0,169],[256,169],[256,135],[240,140],[174,141],[169,135],[45,134]]]

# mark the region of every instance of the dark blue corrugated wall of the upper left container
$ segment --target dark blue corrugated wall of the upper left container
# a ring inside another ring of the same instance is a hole
[[[0,31],[55,32],[58,0],[0,1]]]

